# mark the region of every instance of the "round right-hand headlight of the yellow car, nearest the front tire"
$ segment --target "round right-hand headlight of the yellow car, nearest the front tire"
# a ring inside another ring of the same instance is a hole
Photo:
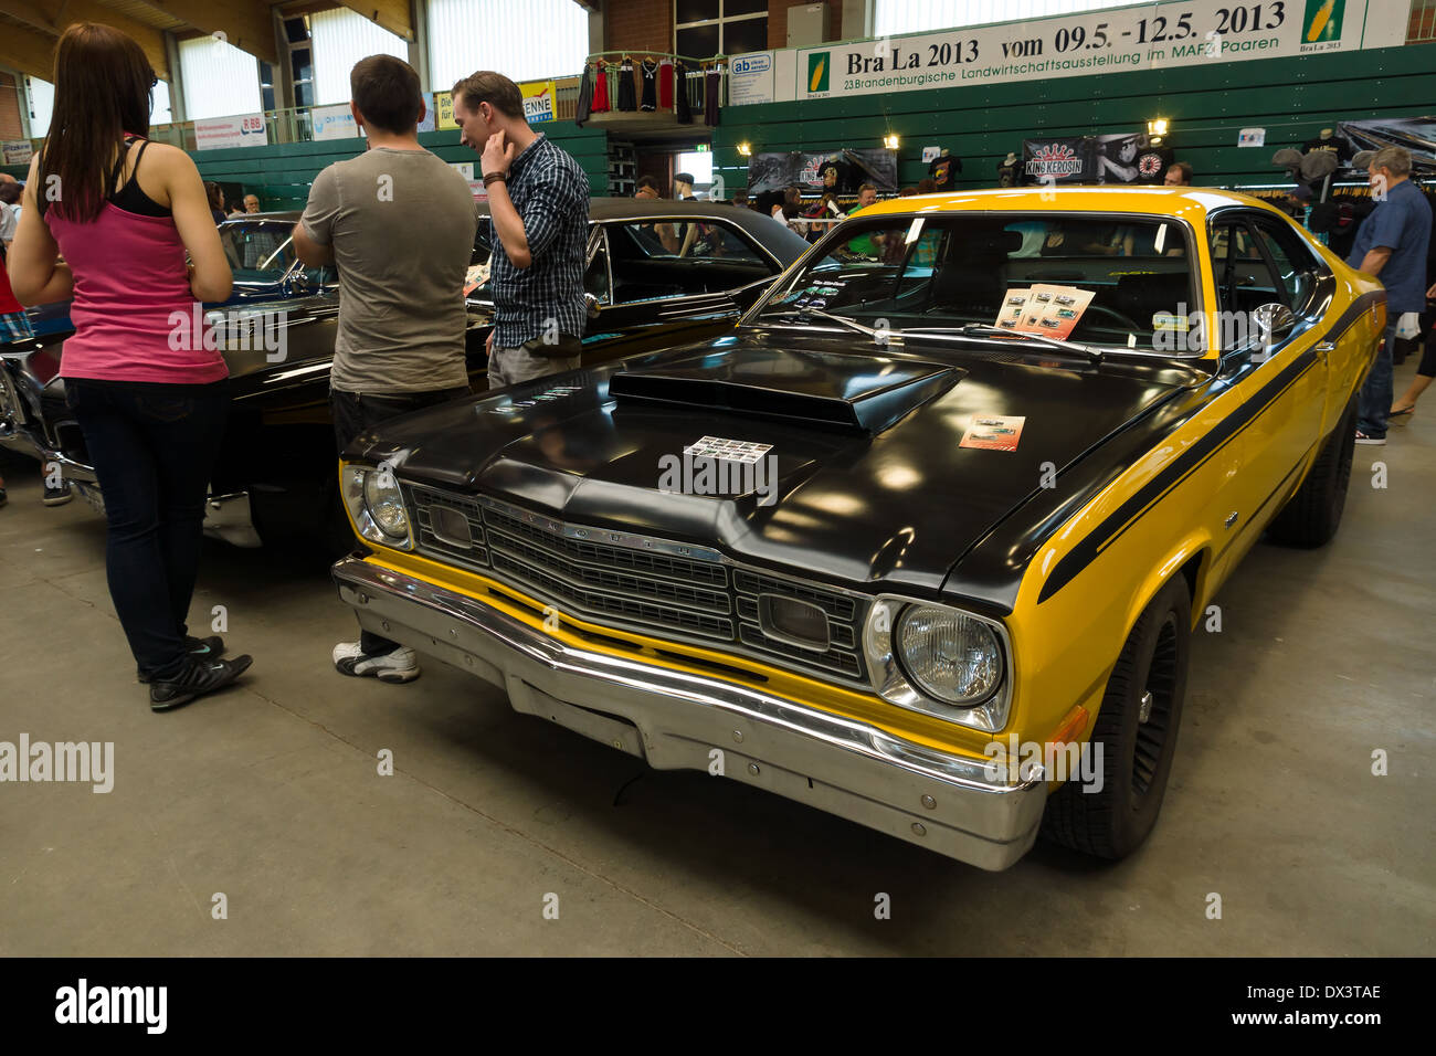
[[[1002,684],[1002,644],[991,626],[952,609],[909,605],[898,621],[898,657],[918,688],[972,707]]]

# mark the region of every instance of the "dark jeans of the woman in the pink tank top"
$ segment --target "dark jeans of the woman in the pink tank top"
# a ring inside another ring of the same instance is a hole
[[[105,497],[105,572],[139,671],[178,675],[228,382],[65,379]]]

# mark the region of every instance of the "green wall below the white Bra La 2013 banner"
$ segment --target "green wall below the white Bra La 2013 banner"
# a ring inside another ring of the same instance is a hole
[[[1341,119],[1423,114],[1436,114],[1436,45],[728,106],[714,129],[714,164],[729,187],[742,187],[742,141],[755,154],[873,148],[890,128],[902,141],[900,185],[928,175],[923,147],[948,147],[962,159],[959,187],[995,187],[998,161],[1021,157],[1022,139],[1146,131],[1149,118],[1170,118],[1167,145],[1195,167],[1196,182],[1279,182],[1285,171],[1271,155],[1281,147]],[[1238,148],[1246,126],[1265,128],[1267,145]]]

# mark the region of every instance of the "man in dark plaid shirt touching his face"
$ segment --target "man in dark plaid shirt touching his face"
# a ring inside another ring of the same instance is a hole
[[[480,152],[494,256],[488,386],[576,369],[583,351],[589,178],[563,148],[534,132],[523,93],[480,70],[454,85],[461,142]]]

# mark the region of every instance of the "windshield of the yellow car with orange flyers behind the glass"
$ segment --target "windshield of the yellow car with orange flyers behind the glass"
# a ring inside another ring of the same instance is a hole
[[[1150,352],[1172,348],[1198,303],[1186,228],[1153,217],[879,217],[826,246],[748,322],[829,313],[895,335],[978,323]]]

